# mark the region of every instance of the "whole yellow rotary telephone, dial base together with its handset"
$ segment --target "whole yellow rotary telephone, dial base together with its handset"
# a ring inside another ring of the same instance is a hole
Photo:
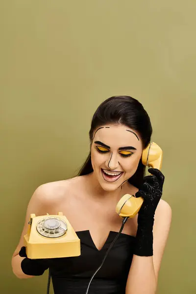
[[[163,152],[150,143],[143,150],[142,163],[145,166],[161,169]],[[143,198],[124,195],[116,206],[116,212],[122,218],[133,218],[142,206]],[[28,231],[24,236],[26,255],[31,259],[73,257],[80,255],[80,239],[62,212],[58,215],[30,215]]]

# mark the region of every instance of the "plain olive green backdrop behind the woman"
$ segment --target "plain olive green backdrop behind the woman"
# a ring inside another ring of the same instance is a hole
[[[0,293],[45,293],[47,274],[20,280],[11,270],[27,203],[39,185],[78,171],[91,118],[113,95],[143,103],[164,151],[173,217],[158,294],[196,293],[195,0],[0,6]]]

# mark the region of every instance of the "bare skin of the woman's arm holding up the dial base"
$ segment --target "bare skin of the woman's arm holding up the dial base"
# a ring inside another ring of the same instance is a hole
[[[24,235],[27,233],[27,227],[28,227],[28,221],[31,213],[35,213],[37,216],[39,215],[45,215],[47,211],[45,211],[46,208],[46,203],[48,202],[48,196],[47,196],[47,189],[46,185],[41,185],[38,187],[35,192],[33,193],[27,207],[26,211],[26,217],[25,217],[25,225],[23,228],[23,232],[21,234],[21,238],[19,241],[18,246],[16,247],[16,250],[13,253],[12,256],[12,270],[14,274],[20,278],[20,279],[25,279],[25,278],[31,278],[33,277],[32,275],[26,275],[21,268],[21,263],[25,259],[24,257],[21,257],[19,255],[19,252],[21,250],[21,247],[24,246]]]

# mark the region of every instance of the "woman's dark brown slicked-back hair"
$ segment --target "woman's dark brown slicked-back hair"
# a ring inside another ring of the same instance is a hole
[[[91,145],[94,131],[98,127],[108,123],[123,124],[137,131],[142,138],[143,148],[146,148],[150,143],[152,134],[150,119],[142,104],[135,98],[130,96],[114,96],[104,100],[98,106],[92,118],[91,129],[89,131]],[[89,174],[91,172],[93,172],[93,167],[90,151],[77,176]],[[140,160],[137,171],[128,179],[128,182],[139,188],[143,182],[144,176],[145,166],[142,164],[142,160]]]

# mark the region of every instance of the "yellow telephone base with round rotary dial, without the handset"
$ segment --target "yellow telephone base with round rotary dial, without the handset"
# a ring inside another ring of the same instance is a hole
[[[80,239],[62,213],[39,217],[31,214],[24,241],[31,259],[80,255]]]

